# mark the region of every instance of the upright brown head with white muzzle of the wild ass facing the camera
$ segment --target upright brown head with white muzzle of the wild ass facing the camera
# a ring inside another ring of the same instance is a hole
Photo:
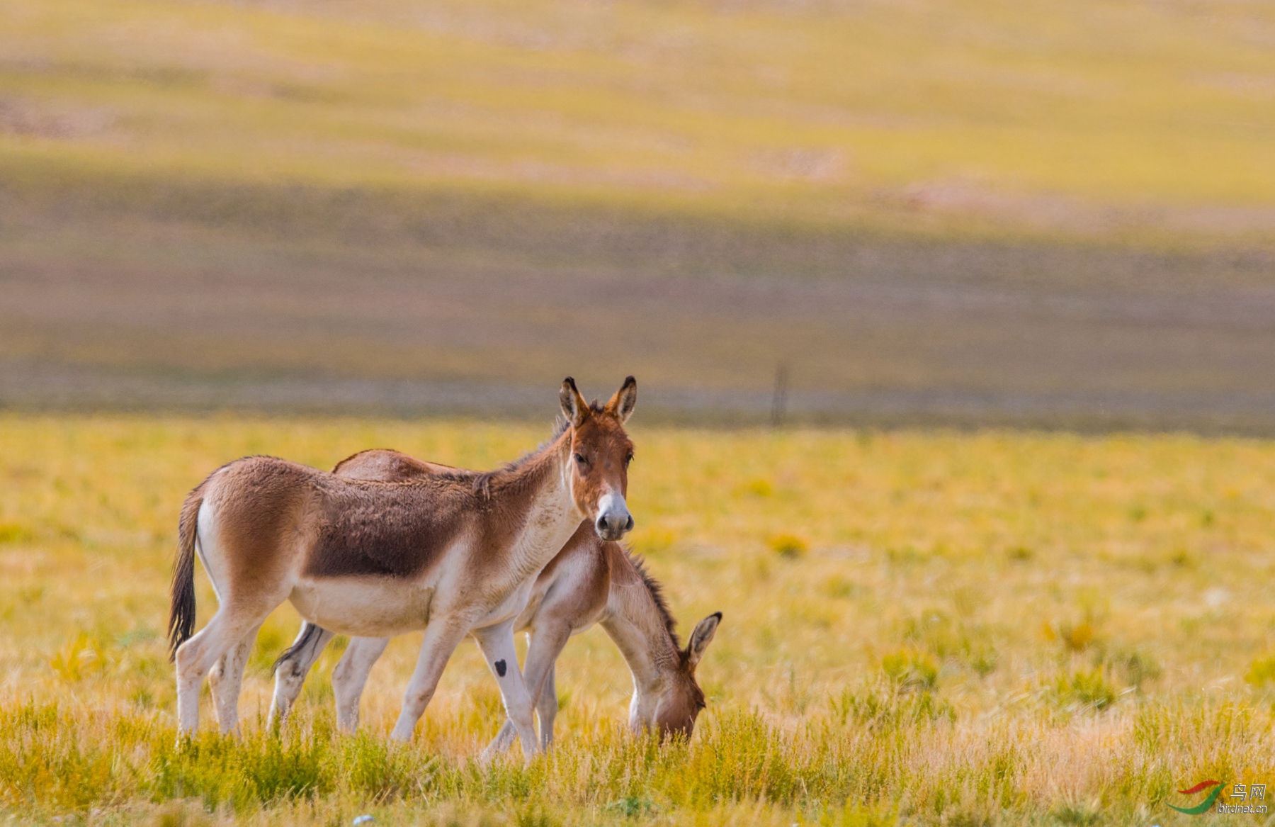
[[[603,540],[618,540],[632,531],[634,518],[625,496],[634,444],[625,421],[638,403],[638,382],[629,376],[603,406],[584,401],[570,376],[558,394],[571,425],[571,495]]]

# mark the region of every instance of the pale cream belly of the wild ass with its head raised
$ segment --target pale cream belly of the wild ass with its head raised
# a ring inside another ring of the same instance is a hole
[[[302,578],[289,600],[302,618],[357,637],[394,637],[423,629],[433,588],[380,577]]]

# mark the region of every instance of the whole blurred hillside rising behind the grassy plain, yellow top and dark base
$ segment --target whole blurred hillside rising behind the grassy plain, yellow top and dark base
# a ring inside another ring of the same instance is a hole
[[[0,5],[0,403],[1275,430],[1275,8]]]

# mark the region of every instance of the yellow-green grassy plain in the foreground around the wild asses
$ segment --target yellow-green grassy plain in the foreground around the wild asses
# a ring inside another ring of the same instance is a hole
[[[0,417],[0,801],[92,823],[1186,823],[1196,781],[1275,781],[1275,443],[1187,435],[632,430],[635,548],[688,629],[725,613],[688,744],[621,727],[598,630],[562,655],[558,745],[483,766],[501,722],[465,643],[405,748],[418,636],[333,734],[324,656],[264,731],[176,749],[164,657],[177,508],[208,471],[368,447],[491,467],[546,428]],[[214,607],[203,574],[200,623]],[[1243,817],[1248,818],[1248,817]],[[1238,823],[1238,822],[1237,822]],[[1247,822],[1244,822],[1247,823]]]

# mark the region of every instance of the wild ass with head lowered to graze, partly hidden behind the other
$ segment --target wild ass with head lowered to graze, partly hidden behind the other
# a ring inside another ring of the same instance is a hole
[[[333,468],[339,476],[386,482],[453,472],[455,468],[449,466],[384,449],[357,453]],[[634,730],[652,727],[666,735],[688,736],[695,717],[704,708],[695,666],[720,620],[720,611],[701,620],[682,648],[659,583],[618,542],[602,540],[588,525],[581,525],[541,572],[527,607],[514,624],[516,632],[525,630],[529,638],[523,679],[541,721],[541,747],[547,748],[553,740],[555,662],[567,638],[594,623],[601,623],[616,642],[632,673],[629,725]],[[332,632],[312,623],[302,624],[296,642],[275,664],[272,721],[288,715],[301,694],[306,674],[333,637]],[[388,643],[389,638],[356,637],[333,670],[340,729],[353,731],[358,726],[358,699],[367,674]],[[516,734],[515,724],[506,720],[487,753],[504,752]]]

